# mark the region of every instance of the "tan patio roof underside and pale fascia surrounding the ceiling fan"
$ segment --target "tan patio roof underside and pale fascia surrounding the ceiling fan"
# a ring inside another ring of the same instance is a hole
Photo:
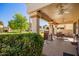
[[[79,19],[79,4],[64,4],[67,9],[66,14],[60,16],[57,11],[59,4],[56,3],[35,3],[28,6],[29,14],[38,11],[38,13],[47,21],[57,24],[74,23]],[[39,11],[40,10],[40,11]]]

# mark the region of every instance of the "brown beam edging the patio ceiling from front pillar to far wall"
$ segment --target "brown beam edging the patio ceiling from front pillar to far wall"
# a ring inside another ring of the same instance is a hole
[[[74,21],[70,20],[70,21],[64,21],[64,22],[56,22],[55,20],[51,19],[46,13],[42,12],[42,11],[38,11],[38,15],[45,19],[46,21],[48,21],[49,23],[51,22],[52,24],[73,24]]]

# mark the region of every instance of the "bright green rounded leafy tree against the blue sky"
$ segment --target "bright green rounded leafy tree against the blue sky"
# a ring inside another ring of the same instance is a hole
[[[27,30],[29,27],[26,17],[21,14],[15,14],[13,16],[13,20],[10,20],[8,23],[10,28],[20,30],[20,32]]]

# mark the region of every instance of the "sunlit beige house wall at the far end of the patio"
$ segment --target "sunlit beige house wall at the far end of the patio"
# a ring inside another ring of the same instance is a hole
[[[57,33],[61,32],[66,36],[73,36],[73,24],[60,24],[57,26],[57,28],[59,28],[56,30]]]

